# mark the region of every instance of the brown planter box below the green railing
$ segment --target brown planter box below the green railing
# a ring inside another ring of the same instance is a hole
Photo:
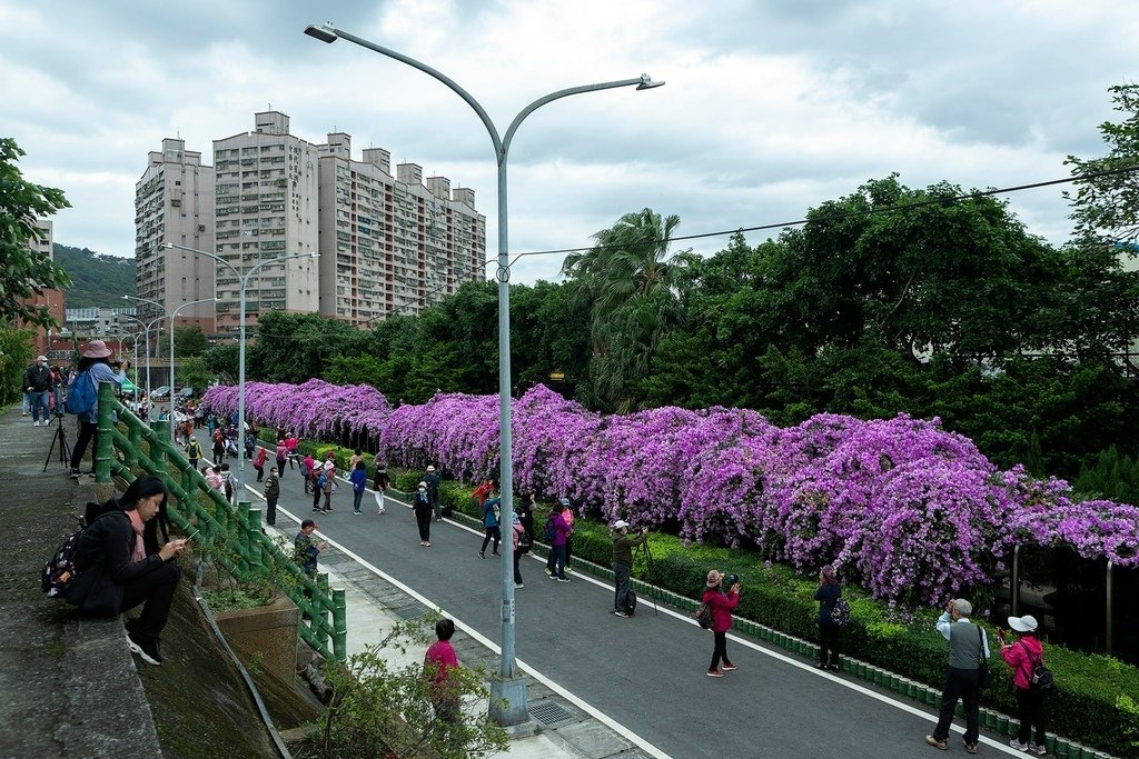
[[[296,675],[297,624],[301,612],[287,595],[255,609],[214,614],[226,640],[248,666],[259,666],[288,683]]]

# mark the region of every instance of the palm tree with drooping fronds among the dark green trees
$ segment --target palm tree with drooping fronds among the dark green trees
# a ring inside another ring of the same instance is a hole
[[[595,390],[618,410],[631,404],[631,386],[648,373],[661,337],[682,319],[682,278],[696,255],[669,257],[679,224],[652,208],[625,214],[562,265],[574,298],[590,306]]]

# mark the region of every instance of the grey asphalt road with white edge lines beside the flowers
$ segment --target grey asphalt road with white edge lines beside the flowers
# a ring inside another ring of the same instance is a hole
[[[252,465],[246,472],[249,486],[257,487]],[[278,509],[297,519],[313,517],[327,538],[499,641],[500,567],[490,551],[486,560],[478,558],[481,534],[433,522],[432,546],[423,547],[407,506],[388,498],[388,513],[378,517],[369,492],[363,514],[354,515],[345,481],[333,496],[334,511],[314,515],[297,470],[286,470]],[[655,614],[647,599],[634,618],[615,617],[612,586],[577,574],[572,583],[556,583],[543,566],[528,558],[522,563],[526,586],[516,592],[518,659],[671,757],[939,754],[924,743],[933,732],[932,712],[912,702],[876,696],[845,675],[821,674],[811,662],[731,637],[728,652],[739,669],[710,678],[710,633],[664,610]],[[950,745],[964,753],[958,733]],[[982,750],[1013,753],[1003,748]]]

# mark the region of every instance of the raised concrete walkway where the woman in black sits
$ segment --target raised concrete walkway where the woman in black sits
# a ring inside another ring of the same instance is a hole
[[[91,478],[72,481],[58,448],[49,457],[55,429],[33,427],[18,407],[0,411],[0,757],[157,757],[122,622],[81,619],[40,588],[43,563],[93,500]]]

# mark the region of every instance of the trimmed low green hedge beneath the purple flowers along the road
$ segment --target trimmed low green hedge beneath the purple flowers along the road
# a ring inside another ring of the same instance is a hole
[[[331,445],[309,445],[323,457],[336,451],[341,470],[347,468],[351,451]],[[371,456],[366,454],[369,479]],[[392,485],[398,490],[413,492],[421,472],[391,469]],[[478,519],[473,488],[446,480],[440,500],[453,512]],[[546,521],[547,508],[534,514],[536,537]],[[818,602],[813,600],[818,585],[794,574],[787,567],[761,563],[746,552],[707,545],[685,547],[679,537],[652,534],[649,568],[645,552],[634,554],[632,576],[682,597],[698,599],[704,589],[707,570],[715,568],[739,575],[743,585],[737,614],[787,635],[818,641]],[[607,568],[613,563],[613,543],[606,525],[579,517],[574,521],[573,555],[575,559]],[[844,630],[843,654],[890,670],[903,677],[940,687],[947,667],[947,644],[934,628],[941,613],[929,610],[909,619],[900,619],[890,608],[855,587],[845,587],[851,604],[851,624]],[[993,686],[982,693],[983,707],[1007,715],[1016,713],[1016,696],[1011,674],[1000,659],[995,634],[985,625],[994,657],[991,662]],[[1056,676],[1056,687],[1048,696],[1048,727],[1058,735],[1079,740],[1113,754],[1139,758],[1139,668],[1112,657],[1085,654],[1059,645],[1047,646],[1049,669]]]

